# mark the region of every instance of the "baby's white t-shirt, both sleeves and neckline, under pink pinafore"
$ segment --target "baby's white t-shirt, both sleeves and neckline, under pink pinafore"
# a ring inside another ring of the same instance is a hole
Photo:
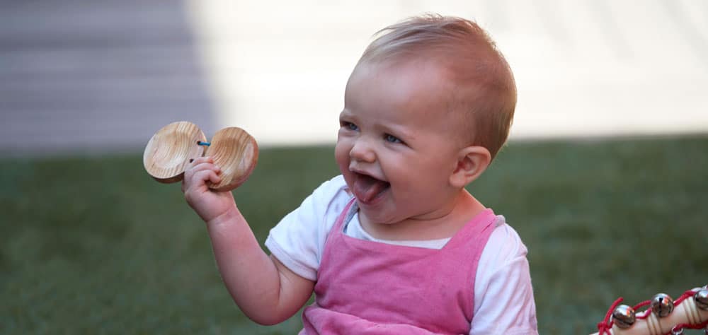
[[[324,182],[270,230],[265,246],[295,274],[316,281],[324,242],[350,199],[341,175]],[[349,221],[345,233],[362,240],[431,249],[440,249],[450,240],[378,240],[361,228],[358,216]],[[538,334],[526,253],[518,233],[503,216],[497,216],[477,266],[470,334]]]

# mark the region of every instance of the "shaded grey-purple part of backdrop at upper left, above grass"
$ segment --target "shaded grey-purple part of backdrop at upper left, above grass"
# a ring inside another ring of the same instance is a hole
[[[3,1],[0,151],[142,150],[211,98],[177,1]]]

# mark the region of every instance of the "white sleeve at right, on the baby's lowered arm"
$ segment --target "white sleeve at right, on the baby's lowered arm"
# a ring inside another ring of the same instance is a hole
[[[538,334],[526,246],[498,218],[479,259],[469,334]]]

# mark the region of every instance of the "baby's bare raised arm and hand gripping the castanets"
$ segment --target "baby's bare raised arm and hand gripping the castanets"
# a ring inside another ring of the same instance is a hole
[[[207,224],[219,272],[241,310],[259,324],[277,324],[299,310],[314,282],[268,257],[236,207],[231,192],[213,192],[206,182],[219,182],[211,158],[198,158],[185,170],[185,199]]]

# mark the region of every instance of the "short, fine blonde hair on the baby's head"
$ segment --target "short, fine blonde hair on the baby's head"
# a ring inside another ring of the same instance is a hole
[[[359,64],[433,59],[454,85],[452,110],[468,141],[484,146],[492,159],[506,142],[516,107],[516,84],[496,44],[476,23],[464,18],[426,14],[379,30]],[[464,137],[464,136],[463,136]]]

